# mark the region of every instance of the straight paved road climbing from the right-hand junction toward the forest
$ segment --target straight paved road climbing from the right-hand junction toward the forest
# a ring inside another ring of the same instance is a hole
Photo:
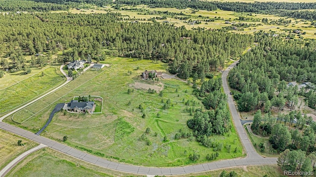
[[[233,64],[231,64],[224,72],[222,75],[222,83],[223,83],[223,88],[225,93],[228,96],[228,105],[229,105],[229,109],[231,110],[232,113],[232,117],[233,117],[233,121],[235,124],[235,127],[237,129],[238,135],[240,137],[240,140],[246,150],[247,153],[247,157],[248,159],[256,159],[256,158],[263,158],[261,157],[261,155],[259,155],[256,150],[252,147],[251,142],[244,130],[244,128],[241,125],[240,122],[240,117],[239,114],[237,112],[236,106],[234,104],[233,101],[233,95],[230,94],[230,89],[228,87],[228,81],[227,81],[227,75],[229,73],[229,70],[232,69],[234,66],[236,66],[238,61],[235,61]]]

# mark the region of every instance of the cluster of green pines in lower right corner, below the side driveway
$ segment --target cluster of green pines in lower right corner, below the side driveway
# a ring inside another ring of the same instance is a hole
[[[289,130],[292,125],[294,128]],[[255,134],[269,136],[272,147],[281,152],[277,164],[282,170],[308,172],[315,168],[316,123],[312,117],[306,114],[303,116],[300,111],[292,111],[274,118],[271,114],[262,116],[258,110],[251,129]],[[259,146],[264,152],[264,145]]]

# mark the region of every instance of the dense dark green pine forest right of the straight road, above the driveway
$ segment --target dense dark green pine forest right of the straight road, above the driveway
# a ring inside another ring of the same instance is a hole
[[[264,109],[269,112],[283,106],[298,106],[298,96],[315,98],[312,88],[288,87],[288,82],[316,83],[316,42],[314,40],[277,40],[257,34],[258,46],[240,58],[229,73],[234,98],[240,111]],[[315,107],[316,99],[309,103]]]

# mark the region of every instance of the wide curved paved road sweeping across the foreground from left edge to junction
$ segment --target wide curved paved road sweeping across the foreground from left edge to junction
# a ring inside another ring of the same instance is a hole
[[[82,152],[75,148],[68,147],[66,145],[55,142],[48,138],[35,135],[32,132],[29,132],[21,128],[17,128],[15,126],[12,126],[4,122],[0,122],[0,128],[9,132],[15,133],[17,135],[20,135],[22,137],[31,139],[40,144],[46,145],[57,151],[63,152],[67,155],[79,158],[89,163],[92,163],[101,167],[113,169],[113,170],[118,170],[121,172],[141,174],[141,175],[182,175],[182,174],[190,174],[190,173],[196,173],[196,172],[204,172],[204,171],[209,171],[209,170],[216,170],[219,168],[237,167],[237,166],[243,166],[243,165],[276,164],[276,158],[263,158],[260,156],[257,158],[248,157],[248,158],[241,158],[241,159],[221,160],[221,161],[216,161],[216,162],[190,165],[190,166],[185,166],[185,167],[175,167],[175,168],[141,167],[141,166],[117,163],[117,162],[109,161],[100,157],[96,157],[94,155],[88,154],[86,152]]]

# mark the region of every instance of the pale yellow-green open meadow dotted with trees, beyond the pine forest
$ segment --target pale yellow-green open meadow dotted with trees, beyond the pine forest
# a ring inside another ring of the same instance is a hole
[[[234,1],[234,0],[233,0]],[[247,1],[247,0],[246,0]],[[278,1],[278,0],[276,0]],[[281,0],[282,1],[282,0]],[[298,0],[301,1],[301,0]],[[292,1],[291,1],[292,2]],[[296,1],[293,1],[296,2]],[[306,1],[304,1],[306,2]],[[138,9],[138,10],[135,10]],[[59,11],[56,11],[59,12]],[[147,5],[137,6],[123,6],[121,9],[115,9],[113,7],[107,8],[96,8],[93,9],[71,9],[69,12],[72,13],[108,13],[118,12],[124,15],[125,21],[138,21],[138,22],[151,22],[151,18],[162,18],[156,19],[160,23],[173,24],[174,26],[181,27],[185,26],[187,29],[222,29],[229,28],[230,32],[252,34],[253,32],[264,30],[266,32],[273,32],[279,34],[282,37],[291,38],[316,38],[316,27],[311,26],[311,21],[304,19],[295,19],[289,17],[279,17],[276,15],[269,14],[258,14],[258,13],[246,13],[246,12],[232,12],[225,10],[193,10],[177,9],[177,8],[150,8]],[[168,14],[173,13],[173,14]],[[177,17],[177,18],[176,18]],[[186,18],[187,20],[180,20],[179,17]],[[240,20],[240,18],[242,20]],[[262,19],[267,18],[268,23],[262,23]],[[290,23],[278,23],[279,21],[289,21]],[[190,24],[189,21],[197,21],[199,23]],[[231,24],[226,22],[232,22]],[[237,26],[237,29],[233,29],[233,26]],[[239,27],[240,26],[240,27]],[[293,31],[301,29],[305,34],[296,34]],[[292,31],[289,33],[289,31]]]

